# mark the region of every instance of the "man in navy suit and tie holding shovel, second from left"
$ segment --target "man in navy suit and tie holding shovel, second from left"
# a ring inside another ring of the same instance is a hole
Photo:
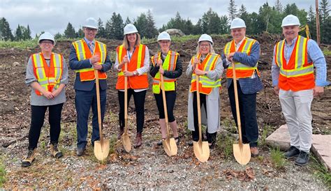
[[[69,66],[75,70],[76,78],[75,107],[77,112],[77,155],[84,154],[87,144],[87,121],[89,109],[92,108],[92,137],[91,144],[100,139],[98,130],[98,112],[96,103],[96,77],[94,70],[98,70],[101,102],[101,121],[105,115],[107,75],[110,63],[106,45],[95,40],[98,24],[94,18],[89,17],[83,25],[84,38],[75,41],[71,47]]]

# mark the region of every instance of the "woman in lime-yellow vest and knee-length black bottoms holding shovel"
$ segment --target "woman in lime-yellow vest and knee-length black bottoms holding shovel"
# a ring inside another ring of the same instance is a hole
[[[165,99],[168,112],[168,121],[175,142],[178,143],[179,137],[177,132],[177,122],[173,114],[176,100],[176,79],[182,75],[182,61],[179,59],[179,54],[170,50],[171,38],[170,35],[163,31],[158,36],[158,42],[161,47],[161,52],[152,56],[152,64],[150,75],[153,77],[153,93],[156,100],[157,108],[159,109],[159,123],[161,128],[162,139],[167,137],[167,127],[165,124],[165,114],[163,108],[163,97],[161,91],[161,74],[164,80]],[[162,141],[158,142],[162,145]]]

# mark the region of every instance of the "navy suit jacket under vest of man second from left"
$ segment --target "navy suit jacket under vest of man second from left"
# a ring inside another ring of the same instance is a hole
[[[78,61],[75,47],[71,45],[71,52],[69,55],[69,67],[72,70],[80,70],[84,68],[91,68],[91,66],[92,65],[89,62],[89,59]],[[105,63],[102,64],[101,72],[106,72],[107,70],[110,70],[110,68],[112,68],[112,63],[110,63],[110,59],[107,54],[105,56]],[[73,89],[80,91],[91,91],[94,87],[95,82],[95,80],[80,82],[80,73],[76,73],[76,79],[75,84],[73,85]],[[106,79],[99,79],[99,85],[101,90],[107,89]]]

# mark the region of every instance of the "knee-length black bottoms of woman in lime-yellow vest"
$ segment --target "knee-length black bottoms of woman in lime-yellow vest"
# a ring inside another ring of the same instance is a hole
[[[175,107],[176,95],[176,91],[165,91],[165,100],[167,104],[169,122],[175,121],[173,110]],[[154,97],[156,100],[157,109],[159,109],[159,118],[165,119],[162,91],[159,94],[154,93]]]

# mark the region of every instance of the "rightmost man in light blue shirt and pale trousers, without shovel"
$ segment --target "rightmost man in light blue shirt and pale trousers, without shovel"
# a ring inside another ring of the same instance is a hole
[[[297,156],[295,164],[303,166],[308,164],[312,142],[311,102],[328,84],[326,63],[316,42],[299,36],[300,21],[295,15],[287,15],[281,27],[285,39],[274,46],[272,86],[290,132],[290,149],[285,157]]]

